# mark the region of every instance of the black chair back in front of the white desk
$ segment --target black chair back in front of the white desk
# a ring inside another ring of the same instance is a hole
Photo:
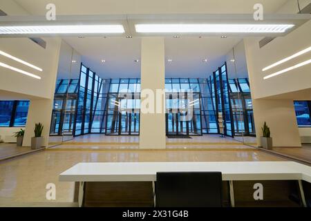
[[[156,206],[221,207],[220,172],[157,173]]]

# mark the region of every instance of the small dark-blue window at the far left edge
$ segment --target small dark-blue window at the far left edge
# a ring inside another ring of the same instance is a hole
[[[0,126],[26,126],[29,101],[0,101]]]

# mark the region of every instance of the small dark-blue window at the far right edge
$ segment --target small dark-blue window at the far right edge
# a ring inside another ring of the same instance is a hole
[[[294,108],[298,126],[310,127],[311,101],[294,101]]]

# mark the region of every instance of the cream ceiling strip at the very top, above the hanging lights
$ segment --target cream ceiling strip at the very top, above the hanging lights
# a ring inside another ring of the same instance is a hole
[[[12,1],[12,0],[9,0]],[[295,0],[14,0],[32,15],[45,15],[46,5],[55,3],[58,15],[164,14],[164,13],[252,13],[262,3],[265,13]]]

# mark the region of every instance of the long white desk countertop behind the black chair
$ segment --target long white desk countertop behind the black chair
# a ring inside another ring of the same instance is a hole
[[[297,162],[82,162],[59,175],[68,182],[156,181],[157,172],[218,171],[223,180],[305,180],[311,166]]]

